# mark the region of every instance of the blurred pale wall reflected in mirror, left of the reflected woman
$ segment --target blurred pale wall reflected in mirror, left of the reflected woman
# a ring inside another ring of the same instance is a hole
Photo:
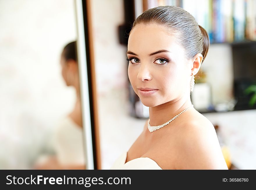
[[[74,11],[73,0],[0,1],[0,169],[29,168],[73,108],[59,58]]]

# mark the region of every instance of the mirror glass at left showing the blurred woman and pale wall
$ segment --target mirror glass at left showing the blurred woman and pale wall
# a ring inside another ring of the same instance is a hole
[[[85,169],[74,1],[0,12],[0,169]]]

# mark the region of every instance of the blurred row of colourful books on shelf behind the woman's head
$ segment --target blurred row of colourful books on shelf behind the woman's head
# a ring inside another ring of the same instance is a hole
[[[185,9],[208,32],[211,44],[256,41],[256,0],[134,1],[135,17],[157,6],[174,5]]]

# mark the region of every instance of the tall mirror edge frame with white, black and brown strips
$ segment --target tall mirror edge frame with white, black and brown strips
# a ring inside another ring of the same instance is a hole
[[[101,169],[90,0],[76,0],[75,7],[86,169]]]

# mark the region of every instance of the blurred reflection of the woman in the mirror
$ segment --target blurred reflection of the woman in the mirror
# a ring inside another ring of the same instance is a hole
[[[67,86],[76,89],[77,100],[73,111],[64,117],[54,134],[55,156],[37,164],[35,169],[85,169],[83,130],[80,103],[76,42],[67,44],[61,54],[62,76]]]

